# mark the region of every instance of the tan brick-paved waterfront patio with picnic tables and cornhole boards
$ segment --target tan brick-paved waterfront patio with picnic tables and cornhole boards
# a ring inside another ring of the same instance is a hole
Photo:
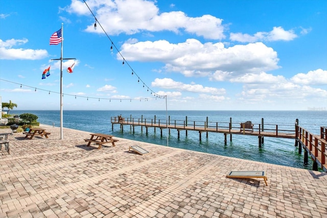
[[[326,173],[123,138],[97,150],[88,132],[41,127],[48,139],[14,133],[0,151],[0,217],[327,217]],[[268,186],[230,171],[266,171]]]

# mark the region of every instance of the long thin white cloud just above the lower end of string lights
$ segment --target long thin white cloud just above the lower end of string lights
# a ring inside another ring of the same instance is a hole
[[[189,92],[200,92],[200,93],[212,93],[212,94],[224,94],[225,89],[214,88],[214,87],[203,87],[197,84],[184,84],[182,82],[176,82],[170,78],[158,79],[156,78],[154,82],[151,83],[153,87],[165,88],[165,89],[175,89],[179,91],[189,91]]]

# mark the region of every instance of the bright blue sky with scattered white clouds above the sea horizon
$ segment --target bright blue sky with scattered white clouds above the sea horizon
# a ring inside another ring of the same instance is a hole
[[[85,2],[1,0],[2,102],[59,110],[62,82],[63,110],[327,110],[327,1]]]

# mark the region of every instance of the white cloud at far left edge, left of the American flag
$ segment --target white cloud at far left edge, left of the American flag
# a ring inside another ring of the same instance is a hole
[[[14,46],[25,44],[27,42],[28,39],[9,39],[6,41],[0,39],[0,59],[39,60],[48,57],[48,52],[46,50],[12,48]]]

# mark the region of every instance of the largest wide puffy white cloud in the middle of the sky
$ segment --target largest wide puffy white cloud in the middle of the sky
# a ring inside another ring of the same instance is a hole
[[[197,39],[177,44],[158,40],[124,43],[121,52],[130,61],[164,62],[167,71],[180,72],[186,77],[205,77],[214,72],[236,77],[279,67],[277,53],[262,42],[225,47],[221,42],[203,44]],[[214,75],[212,80],[221,81],[225,76]]]

